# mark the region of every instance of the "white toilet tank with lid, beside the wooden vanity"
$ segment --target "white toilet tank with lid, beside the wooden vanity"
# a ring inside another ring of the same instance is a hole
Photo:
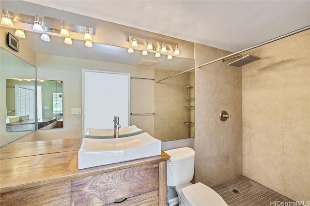
[[[181,147],[165,152],[171,157],[171,162],[167,162],[167,185],[177,187],[190,182],[194,176],[195,151]]]

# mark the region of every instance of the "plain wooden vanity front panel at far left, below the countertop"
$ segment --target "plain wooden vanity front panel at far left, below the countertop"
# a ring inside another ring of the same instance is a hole
[[[2,206],[70,206],[70,180],[1,193]]]

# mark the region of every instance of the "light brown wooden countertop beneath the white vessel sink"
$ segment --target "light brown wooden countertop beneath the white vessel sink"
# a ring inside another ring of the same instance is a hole
[[[162,151],[161,155],[154,157],[79,170],[78,149],[81,138],[11,144],[7,149],[2,147],[0,150],[1,158],[3,157],[0,160],[1,193],[167,161],[170,158]],[[24,151],[25,155],[21,156],[19,150],[26,147],[32,149],[26,153]],[[15,152],[19,154],[14,155]]]

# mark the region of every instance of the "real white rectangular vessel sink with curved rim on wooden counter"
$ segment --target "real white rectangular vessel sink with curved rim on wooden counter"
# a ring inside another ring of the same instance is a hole
[[[83,138],[78,169],[160,155],[161,141],[147,132],[116,139]]]

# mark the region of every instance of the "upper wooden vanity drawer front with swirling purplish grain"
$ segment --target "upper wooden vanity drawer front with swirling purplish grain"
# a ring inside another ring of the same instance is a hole
[[[71,205],[108,205],[158,188],[158,163],[146,164],[71,180]]]

